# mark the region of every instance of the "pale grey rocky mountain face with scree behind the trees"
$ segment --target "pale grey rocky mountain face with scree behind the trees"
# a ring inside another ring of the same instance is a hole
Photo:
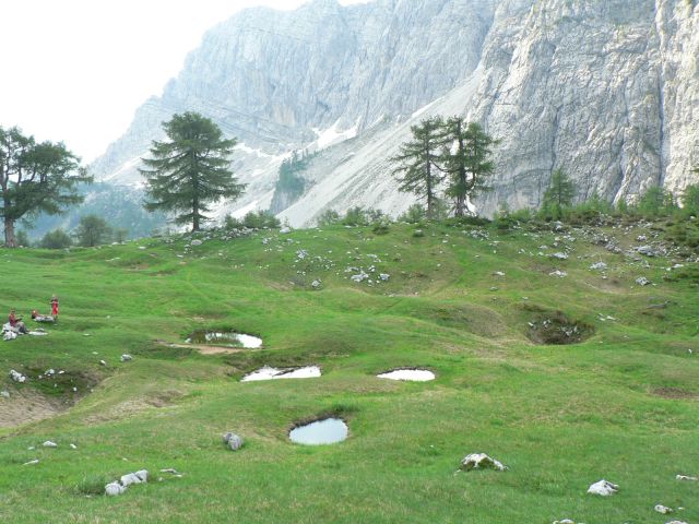
[[[298,150],[316,153],[304,192],[274,198],[292,225],[353,205],[395,214],[413,198],[398,192],[388,158],[422,118],[460,114],[501,141],[481,212],[537,205],[557,167],[580,198],[678,190],[699,165],[698,57],[696,0],[252,9],[212,28],[92,167],[103,181],[138,186],[161,122],[196,110],[238,139],[234,169],[248,183],[218,217],[269,209],[279,167]]]

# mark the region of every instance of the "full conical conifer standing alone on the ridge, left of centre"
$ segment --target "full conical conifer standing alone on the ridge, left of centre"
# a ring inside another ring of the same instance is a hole
[[[197,112],[175,115],[163,123],[169,141],[154,141],[153,158],[144,158],[147,211],[176,213],[177,224],[192,224],[199,230],[209,204],[237,199],[245,186],[229,169],[235,139],[223,138],[221,129]],[[178,214],[177,214],[178,213]]]

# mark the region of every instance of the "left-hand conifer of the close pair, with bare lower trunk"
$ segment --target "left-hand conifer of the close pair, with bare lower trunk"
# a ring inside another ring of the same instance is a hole
[[[440,150],[446,144],[445,122],[441,117],[423,120],[411,127],[413,139],[401,145],[400,153],[390,162],[395,165],[393,176],[401,191],[425,199],[427,219],[435,218],[437,188],[445,174],[439,167]]]

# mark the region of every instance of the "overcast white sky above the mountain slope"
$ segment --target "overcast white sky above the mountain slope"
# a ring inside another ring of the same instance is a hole
[[[307,1],[0,0],[0,126],[63,141],[90,162],[206,29],[247,7]]]

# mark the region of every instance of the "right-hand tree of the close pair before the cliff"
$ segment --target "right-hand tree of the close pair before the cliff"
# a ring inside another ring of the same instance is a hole
[[[489,191],[487,179],[495,172],[491,159],[497,141],[476,122],[466,122],[462,117],[452,117],[445,124],[446,140],[453,144],[442,152],[445,171],[449,175],[447,195],[453,199],[454,215],[464,216],[469,199]]]

